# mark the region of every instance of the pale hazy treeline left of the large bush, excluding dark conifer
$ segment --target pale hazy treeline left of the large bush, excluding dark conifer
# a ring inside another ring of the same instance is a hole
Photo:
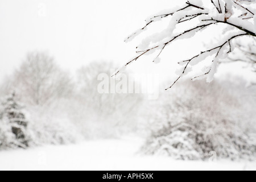
[[[72,77],[48,53],[31,52],[1,85],[2,103],[13,94],[13,100],[20,102],[29,121],[31,145],[117,137],[135,130],[142,97],[98,93],[98,74],[109,74],[111,68],[109,63],[91,63]],[[5,105],[2,107],[5,113]]]

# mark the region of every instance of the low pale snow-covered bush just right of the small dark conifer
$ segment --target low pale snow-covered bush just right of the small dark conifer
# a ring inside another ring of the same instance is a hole
[[[79,126],[58,107],[29,107],[27,110],[31,121],[28,129],[34,145],[69,144],[81,139]]]

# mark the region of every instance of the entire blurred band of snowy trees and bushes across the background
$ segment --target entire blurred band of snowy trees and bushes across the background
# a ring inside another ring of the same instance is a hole
[[[143,154],[255,156],[255,86],[227,76],[211,84],[179,82],[154,101],[143,94],[98,93],[98,74],[113,67],[97,61],[71,75],[48,53],[28,53],[0,87],[0,149],[137,134],[146,138]]]

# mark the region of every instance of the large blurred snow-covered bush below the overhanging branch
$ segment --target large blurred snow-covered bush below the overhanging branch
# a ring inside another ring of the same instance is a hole
[[[165,94],[162,103],[156,101],[157,107],[153,107],[158,112],[152,115],[152,133],[142,151],[184,160],[209,159],[211,151],[218,158],[254,159],[256,138],[251,134],[255,133],[255,98],[250,98],[254,105],[247,108],[246,101],[233,97],[232,89],[216,82],[185,85],[177,86],[168,97]],[[230,82],[224,85],[232,87]],[[244,97],[243,92],[244,86],[240,97]],[[250,118],[244,117],[249,114]]]

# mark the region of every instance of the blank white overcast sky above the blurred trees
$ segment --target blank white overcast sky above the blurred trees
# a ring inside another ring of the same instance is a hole
[[[75,71],[90,61],[116,61],[120,66],[134,56],[134,42],[123,40],[144,26],[144,19],[185,1],[177,0],[0,0],[0,78],[17,68],[28,51],[48,51],[65,69]],[[46,16],[40,14],[46,6]],[[194,46],[193,46],[194,45]],[[183,43],[180,43],[183,46]],[[195,42],[186,46],[195,47]],[[166,52],[166,63],[184,49]],[[188,51],[189,52],[189,51]],[[185,54],[186,55],[186,54]],[[182,57],[182,56],[181,56]],[[187,58],[187,57],[186,57]],[[172,61],[176,63],[179,60]],[[131,67],[143,68],[145,60]],[[174,64],[151,65],[166,77]],[[168,66],[167,66],[168,65]],[[163,69],[162,68],[167,68]]]

